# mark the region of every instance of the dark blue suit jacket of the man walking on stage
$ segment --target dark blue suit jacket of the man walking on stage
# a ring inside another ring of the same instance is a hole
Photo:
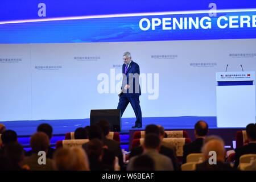
[[[129,67],[127,68],[126,73],[125,73],[125,67],[126,67],[126,64],[123,64],[122,73],[126,77],[123,78],[122,88],[124,85],[129,84],[130,89],[127,89],[127,91],[126,91],[121,88],[123,90],[122,94],[124,94],[127,97],[140,96],[141,95],[141,86],[139,85],[139,73],[140,73],[139,65],[137,63],[135,63],[134,61],[131,61]],[[133,84],[129,83],[129,81],[133,81]]]

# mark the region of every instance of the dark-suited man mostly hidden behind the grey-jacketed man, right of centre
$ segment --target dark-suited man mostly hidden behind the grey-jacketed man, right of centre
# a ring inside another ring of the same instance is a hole
[[[145,137],[147,134],[156,134],[159,136],[160,139],[160,130],[159,127],[156,125],[147,125],[145,129]],[[138,146],[133,149],[131,149],[129,158],[132,158],[133,156],[137,156],[143,153],[143,147]],[[162,143],[160,144],[159,154],[163,154],[165,156],[168,156],[172,160],[172,164],[174,165],[174,170],[178,171],[180,169],[179,162],[177,160],[175,151],[172,150],[170,147],[164,146]]]

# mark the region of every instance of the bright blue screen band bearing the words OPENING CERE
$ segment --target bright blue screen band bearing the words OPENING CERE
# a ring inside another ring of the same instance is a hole
[[[0,43],[134,42],[256,38],[256,11],[0,24]]]

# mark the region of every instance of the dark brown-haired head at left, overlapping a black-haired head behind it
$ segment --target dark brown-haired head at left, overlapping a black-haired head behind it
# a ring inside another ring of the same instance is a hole
[[[43,132],[36,132],[30,139],[30,146],[32,148],[32,152],[36,154],[39,151],[47,152],[49,147],[49,138]]]

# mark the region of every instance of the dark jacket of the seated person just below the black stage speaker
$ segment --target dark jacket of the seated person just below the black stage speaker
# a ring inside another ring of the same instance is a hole
[[[108,146],[108,150],[113,152],[115,156],[118,157],[119,160],[119,166],[123,167],[123,154],[122,154],[122,150],[121,147],[119,145],[119,143],[117,141],[114,140],[110,140],[110,139],[103,139],[103,143],[104,145]]]

